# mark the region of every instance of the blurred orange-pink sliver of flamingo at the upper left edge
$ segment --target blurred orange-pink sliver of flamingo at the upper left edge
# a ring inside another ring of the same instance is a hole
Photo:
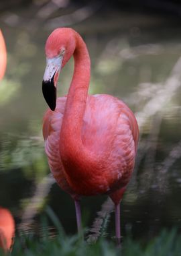
[[[5,47],[5,40],[0,30],[0,80],[3,78],[5,74],[6,63],[7,63],[7,53],[6,53],[6,47]]]

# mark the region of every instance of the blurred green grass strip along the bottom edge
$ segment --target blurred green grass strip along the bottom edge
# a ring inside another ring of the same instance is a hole
[[[48,230],[48,229],[47,229]],[[113,241],[105,238],[97,243],[88,244],[77,235],[66,236],[60,234],[50,237],[48,231],[37,238],[34,234],[15,238],[12,256],[180,256],[181,235],[176,230],[163,231],[158,237],[143,245],[141,242],[125,238],[121,248],[117,248]],[[0,253],[3,255],[3,253]]]

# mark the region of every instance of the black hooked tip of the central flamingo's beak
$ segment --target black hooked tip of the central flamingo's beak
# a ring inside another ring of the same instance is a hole
[[[56,87],[54,86],[53,79],[51,81],[42,82],[42,92],[46,103],[52,111],[56,108]]]

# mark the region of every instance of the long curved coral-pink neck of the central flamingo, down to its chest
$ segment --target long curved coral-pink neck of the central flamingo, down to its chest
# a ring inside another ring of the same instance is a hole
[[[84,148],[81,137],[91,75],[91,61],[82,38],[76,34],[75,40],[74,75],[60,131],[60,157],[70,183],[87,176],[95,162],[93,152],[88,152]]]

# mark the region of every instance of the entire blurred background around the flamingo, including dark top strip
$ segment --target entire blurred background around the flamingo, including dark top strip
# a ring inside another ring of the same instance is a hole
[[[62,26],[86,42],[89,93],[121,98],[139,123],[135,172],[121,203],[123,236],[149,239],[172,226],[181,231],[180,1],[1,0],[7,71],[0,82],[0,205],[11,210],[17,230],[38,226],[50,205],[66,232],[76,232],[74,203],[50,176],[42,137],[44,44]],[[58,96],[66,94],[72,72],[70,61]],[[86,226],[106,198],[82,199]],[[110,218],[109,237],[115,233]]]

